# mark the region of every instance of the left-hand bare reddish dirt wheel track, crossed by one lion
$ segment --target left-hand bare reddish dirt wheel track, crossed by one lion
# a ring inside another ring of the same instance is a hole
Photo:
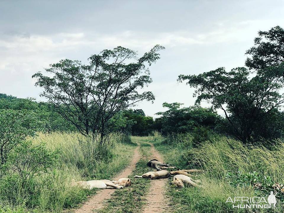
[[[114,180],[118,180],[120,178],[127,178],[128,175],[135,169],[135,165],[140,159],[139,154],[139,148],[140,145],[136,147],[134,150],[133,157],[130,161],[130,164],[128,167],[126,167],[125,170],[123,170],[120,175],[118,175]],[[94,196],[92,196],[88,201],[83,203],[83,206],[81,206],[79,209],[76,209],[74,213],[91,213],[96,212],[96,210],[101,209],[104,207],[104,203],[107,199],[111,198],[112,193],[114,193],[116,189],[103,189],[98,191]]]

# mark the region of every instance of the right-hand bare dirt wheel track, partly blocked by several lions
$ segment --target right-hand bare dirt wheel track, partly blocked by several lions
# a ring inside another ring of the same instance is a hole
[[[151,144],[151,143],[149,143]],[[163,157],[151,144],[152,158],[155,158],[161,162],[164,161]],[[165,212],[170,207],[168,206],[169,199],[166,197],[166,183],[167,179],[151,180],[151,187],[149,193],[146,196],[146,206],[143,209],[143,213],[153,212]]]

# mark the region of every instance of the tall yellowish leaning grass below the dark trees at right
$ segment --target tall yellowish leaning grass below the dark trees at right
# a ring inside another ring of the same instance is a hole
[[[253,172],[284,182],[284,141],[272,150],[264,146],[246,146],[226,137],[205,141],[188,151],[190,164],[200,165],[212,177],[224,178],[228,172]]]

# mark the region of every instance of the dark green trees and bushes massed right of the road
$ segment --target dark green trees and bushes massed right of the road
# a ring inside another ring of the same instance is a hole
[[[196,105],[180,108],[179,103],[164,103],[168,110],[157,113],[161,117],[154,121],[155,128],[163,135],[203,135],[202,140],[213,131],[250,144],[283,137],[284,30],[276,26],[258,34],[246,51],[246,67],[179,75],[178,81],[196,88]],[[201,108],[202,101],[210,103],[210,109]]]

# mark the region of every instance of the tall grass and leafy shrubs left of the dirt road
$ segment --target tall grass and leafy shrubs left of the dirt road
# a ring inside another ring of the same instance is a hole
[[[12,167],[0,179],[0,203],[25,203],[24,209],[39,212],[62,212],[83,202],[96,190],[72,187],[71,180],[111,179],[134,149],[122,134],[109,135],[104,147],[99,137],[80,133],[38,133],[31,140],[15,148]]]

